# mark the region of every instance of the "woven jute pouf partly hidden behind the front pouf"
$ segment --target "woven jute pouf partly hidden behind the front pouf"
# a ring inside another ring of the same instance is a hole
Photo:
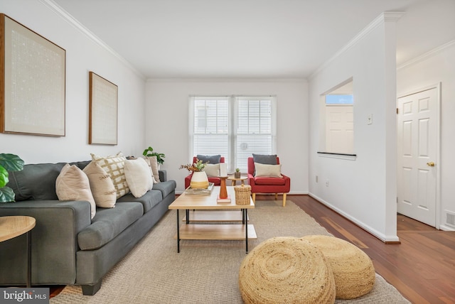
[[[321,249],[331,264],[335,278],[336,298],[353,299],[371,291],[375,268],[370,257],[348,241],[326,235],[303,237]]]

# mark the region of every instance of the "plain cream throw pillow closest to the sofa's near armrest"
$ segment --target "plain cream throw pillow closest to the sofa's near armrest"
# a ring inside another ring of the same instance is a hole
[[[90,202],[90,218],[95,217],[97,207],[90,191],[87,175],[76,165],[66,164],[55,180],[55,192],[58,200],[86,200]]]

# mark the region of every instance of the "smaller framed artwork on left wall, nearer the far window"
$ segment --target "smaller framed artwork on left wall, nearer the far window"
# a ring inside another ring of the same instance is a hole
[[[118,87],[90,72],[89,144],[117,145]]]

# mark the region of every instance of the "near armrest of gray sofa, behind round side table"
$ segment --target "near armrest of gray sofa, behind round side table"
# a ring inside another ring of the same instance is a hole
[[[31,230],[32,284],[75,283],[77,234],[91,223],[90,203],[24,200],[0,205],[0,216],[13,215],[36,219]],[[0,284],[25,282],[25,248],[25,235],[0,243]]]

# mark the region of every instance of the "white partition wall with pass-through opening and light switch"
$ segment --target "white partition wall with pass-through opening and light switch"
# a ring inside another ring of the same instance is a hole
[[[398,240],[394,17],[382,14],[376,18],[309,81],[310,193],[383,241]],[[350,77],[357,158],[321,157],[317,153],[320,96]],[[369,114],[373,114],[370,125]]]

